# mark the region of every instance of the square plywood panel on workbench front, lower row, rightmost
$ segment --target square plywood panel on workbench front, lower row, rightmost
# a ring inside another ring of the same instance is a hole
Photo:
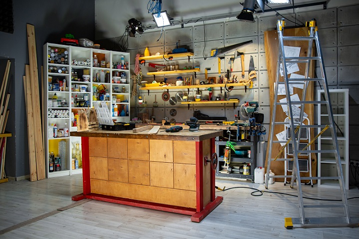
[[[196,165],[173,164],[174,188],[196,191]]]

